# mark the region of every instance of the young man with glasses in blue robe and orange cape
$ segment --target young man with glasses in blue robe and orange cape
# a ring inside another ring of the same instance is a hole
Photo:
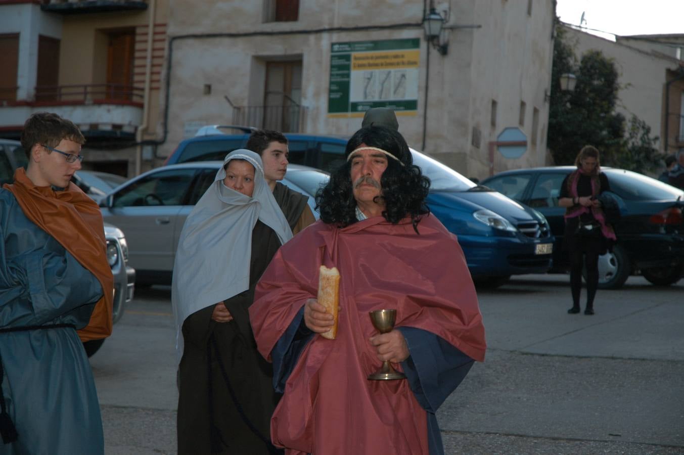
[[[27,168],[0,190],[1,453],[104,453],[81,341],[111,333],[114,278],[101,213],[70,183],[83,142],[69,120],[33,114]]]

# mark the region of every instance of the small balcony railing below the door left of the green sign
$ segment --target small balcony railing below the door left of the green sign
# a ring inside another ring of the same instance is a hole
[[[302,133],[306,125],[306,109],[302,105],[235,106],[233,125]]]

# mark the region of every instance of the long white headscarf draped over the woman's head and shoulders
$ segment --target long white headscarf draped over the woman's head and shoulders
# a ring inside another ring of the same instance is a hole
[[[244,159],[254,166],[252,197],[224,185],[231,159]],[[285,215],[263,177],[261,157],[241,148],[226,155],[213,183],[183,224],[171,290],[179,361],[185,318],[249,289],[252,229],[257,219],[275,231],[280,244],[292,238]]]

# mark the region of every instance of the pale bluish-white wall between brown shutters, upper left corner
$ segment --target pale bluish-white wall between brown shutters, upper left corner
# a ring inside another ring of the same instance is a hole
[[[3,34],[19,34],[16,98],[32,99],[38,75],[38,36],[61,39],[62,18],[46,14],[40,5],[32,3],[0,5],[0,30]]]

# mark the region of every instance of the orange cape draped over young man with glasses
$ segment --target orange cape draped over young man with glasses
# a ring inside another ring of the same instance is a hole
[[[107,262],[102,213],[95,201],[74,183],[64,191],[36,186],[24,168],[14,171],[14,183],[3,188],[14,194],[26,218],[60,242],[102,285],[103,297],[95,304],[88,326],[78,330],[81,341],[109,337],[114,276]]]

